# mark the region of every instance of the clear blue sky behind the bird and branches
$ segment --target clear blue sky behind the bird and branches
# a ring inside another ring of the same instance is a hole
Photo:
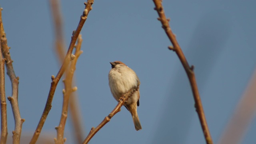
[[[84,10],[84,1],[61,1],[66,46]],[[195,66],[198,88],[214,143],[232,116],[256,67],[255,1],[164,0],[170,26],[189,64]],[[4,1],[2,20],[14,70],[20,77],[19,106],[22,134],[34,132],[59,66],[54,52],[54,29],[49,2]],[[122,144],[203,144],[188,78],[161,28],[151,0],[96,0],[82,29],[82,50],[76,67],[79,105],[88,132],[116,106],[108,86],[109,62],[120,60],[141,81],[136,131],[122,108],[91,140]],[[56,137],[62,106],[60,82],[43,133]],[[11,95],[6,78],[6,96]],[[72,143],[68,120],[65,137]],[[8,103],[9,136],[14,129]],[[255,118],[242,144],[254,144]]]

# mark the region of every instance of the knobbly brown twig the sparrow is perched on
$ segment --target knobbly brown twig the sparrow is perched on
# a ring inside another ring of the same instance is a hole
[[[118,104],[116,105],[116,107],[114,108],[114,110],[112,110],[112,112],[110,112],[110,114],[108,116],[106,116],[104,118],[104,120],[96,127],[92,127],[88,136],[85,138],[84,142],[82,144],[88,144],[88,142],[92,139],[92,137],[106,124],[110,121],[110,119],[118,112],[121,111],[121,107],[124,105],[124,103],[128,100],[128,98],[130,98],[130,96],[132,96],[132,94],[134,94],[135,91],[137,91],[139,89],[139,86],[134,89],[130,89],[128,92],[126,92],[120,99]]]

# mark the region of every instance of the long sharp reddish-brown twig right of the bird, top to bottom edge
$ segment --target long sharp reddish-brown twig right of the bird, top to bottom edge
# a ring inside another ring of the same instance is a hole
[[[192,92],[193,92],[193,96],[194,96],[194,100],[195,100],[195,107],[196,107],[196,112],[198,113],[198,117],[200,120],[200,124],[202,126],[202,130],[204,133],[204,138],[206,140],[207,144],[213,144],[211,135],[210,135],[210,131],[206,122],[206,118],[204,115],[204,110],[203,110],[203,106],[202,106],[202,102],[200,99],[200,94],[198,92],[198,87],[196,84],[196,78],[194,75],[194,66],[192,65],[191,67],[188,64],[188,61],[186,60],[186,57],[184,56],[182,49],[180,48],[178,41],[176,40],[176,36],[172,33],[172,30],[170,28],[169,25],[169,21],[170,19],[167,19],[165,14],[164,14],[164,8],[162,6],[162,0],[153,0],[154,4],[156,5],[155,10],[157,11],[159,18],[158,20],[162,23],[162,28],[164,29],[164,31],[166,32],[168,38],[170,39],[172,46],[169,46],[168,48],[170,50],[173,50],[176,52],[176,54],[178,55],[180,62],[182,63],[186,74],[188,75],[188,79],[190,81],[190,85],[192,88]]]

